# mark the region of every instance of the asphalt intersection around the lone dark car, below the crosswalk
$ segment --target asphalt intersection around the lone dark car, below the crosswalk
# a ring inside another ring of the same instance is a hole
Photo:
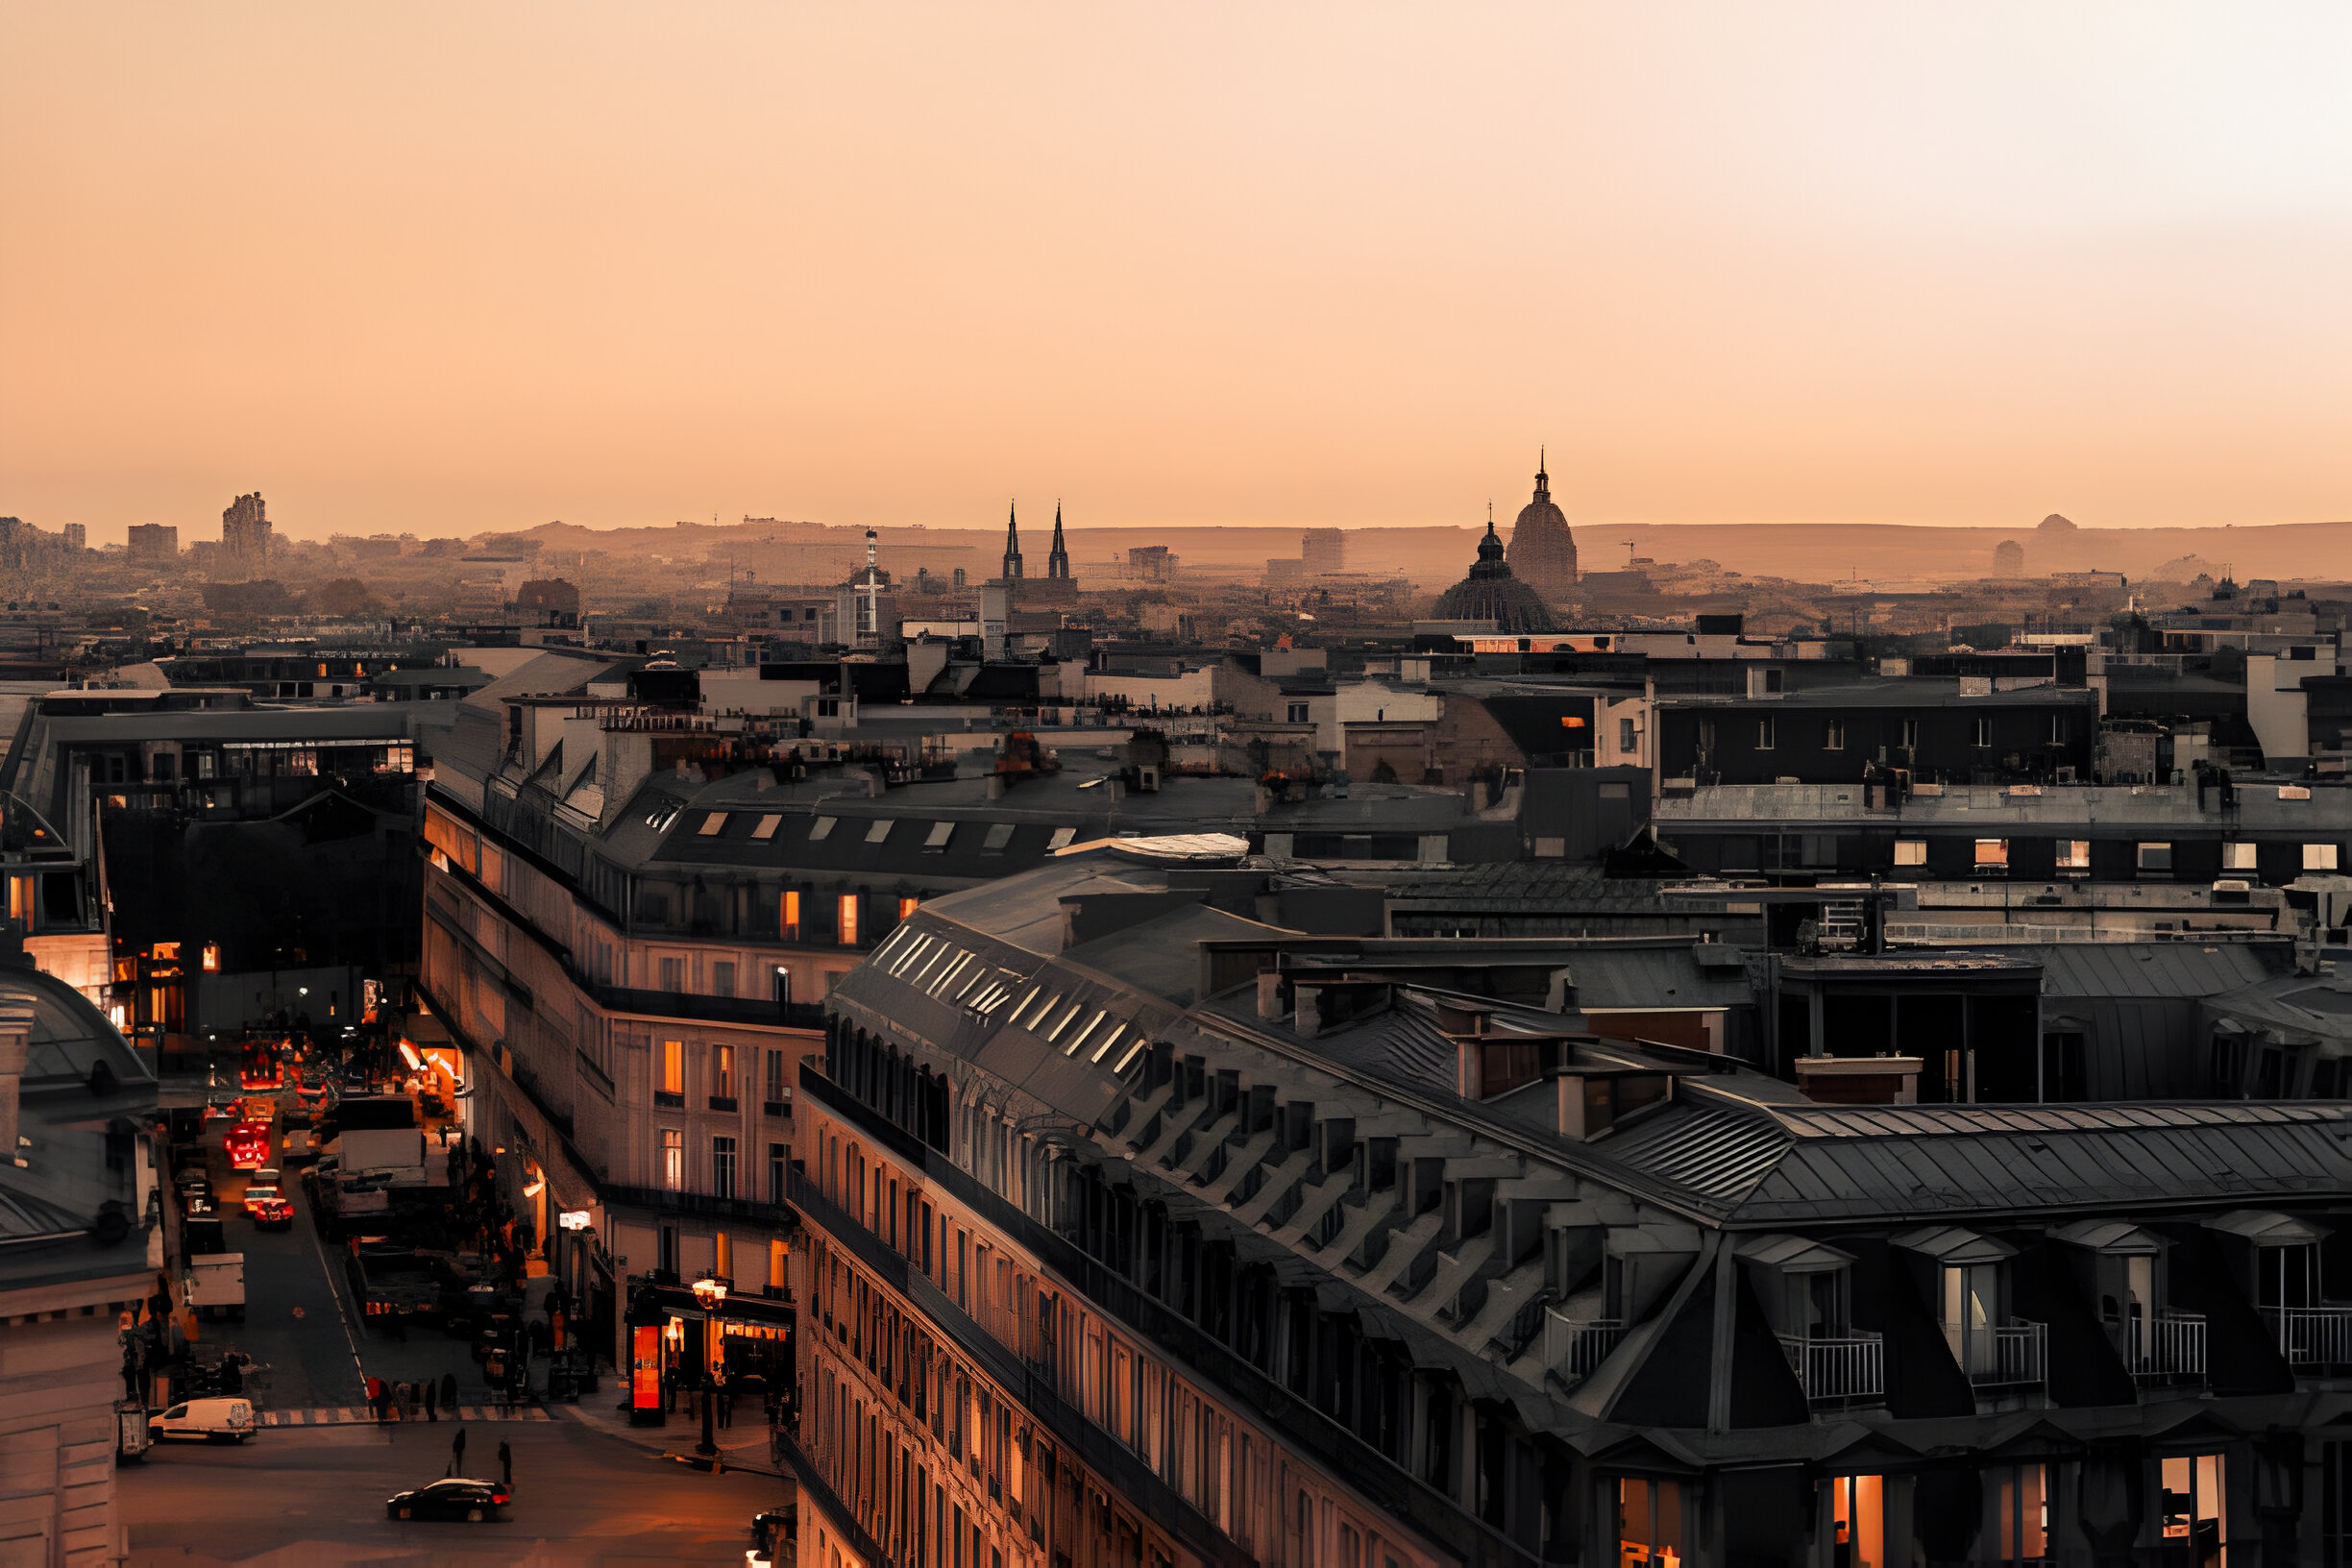
[[[383,1500],[440,1479],[452,1425],[263,1429],[249,1443],[174,1443],[118,1479],[139,1563],[736,1563],[750,1516],[783,1502],[753,1472],[703,1474],[557,1413],[468,1422],[466,1469],[515,1450],[501,1523],[402,1523]]]

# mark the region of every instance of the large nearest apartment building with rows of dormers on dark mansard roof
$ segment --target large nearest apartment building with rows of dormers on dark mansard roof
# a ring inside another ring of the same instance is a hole
[[[1823,1105],[1152,853],[826,1001],[802,1561],[2345,1549],[2343,1105]]]

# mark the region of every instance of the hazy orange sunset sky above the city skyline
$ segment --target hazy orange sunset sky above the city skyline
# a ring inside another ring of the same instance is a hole
[[[0,5],[0,512],[2352,515],[2340,5]]]

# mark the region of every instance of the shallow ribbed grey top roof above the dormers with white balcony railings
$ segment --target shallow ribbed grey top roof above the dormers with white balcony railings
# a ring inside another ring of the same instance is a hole
[[[1693,1086],[1588,1145],[1724,1225],[2244,1206],[2352,1185],[2352,1105],[1757,1105]]]

